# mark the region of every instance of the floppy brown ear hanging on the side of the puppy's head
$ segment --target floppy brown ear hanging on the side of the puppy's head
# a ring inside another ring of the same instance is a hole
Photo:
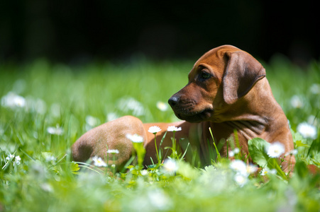
[[[231,105],[265,77],[265,69],[247,52],[226,52],[225,55],[228,65],[223,78],[224,101]]]

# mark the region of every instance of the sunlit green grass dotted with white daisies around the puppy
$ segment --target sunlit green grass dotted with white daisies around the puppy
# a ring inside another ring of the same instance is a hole
[[[304,69],[282,57],[264,64],[298,151],[290,179],[278,172],[238,184],[226,158],[204,168],[178,160],[175,174],[165,166],[131,166],[115,177],[96,167],[78,170],[70,146],[88,129],[126,114],[143,122],[176,121],[156,103],[187,83],[192,65],[142,60],[67,66],[44,59],[1,64],[0,211],[320,211],[320,177],[307,171],[309,164],[320,166],[318,61]],[[16,102],[23,107],[6,105],[10,93],[23,98]],[[132,102],[138,109],[128,106]],[[316,138],[297,132],[302,122],[316,126]]]

